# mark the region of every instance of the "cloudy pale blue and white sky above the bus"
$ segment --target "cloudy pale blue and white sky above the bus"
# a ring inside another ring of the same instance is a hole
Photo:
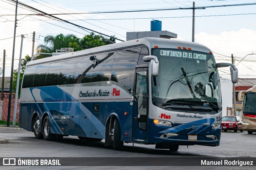
[[[68,20],[88,29],[115,35],[126,40],[126,32],[150,31],[151,20],[161,20],[162,30],[178,34],[178,39],[192,41],[192,0],[19,0],[26,5]],[[256,78],[256,1],[252,0],[194,0],[195,42],[209,47],[217,63],[231,63],[234,55],[239,78]],[[254,5],[255,2],[255,5]],[[202,8],[205,7],[205,8]],[[170,9],[170,10],[164,10]],[[118,12],[147,10],[145,12]],[[154,11],[149,11],[154,10]],[[114,13],[100,13],[114,12]],[[68,13],[68,14],[67,14]],[[90,13],[90,14],[74,14]],[[20,35],[24,35],[22,58],[32,54],[32,33],[36,32],[35,48],[44,36],[74,34],[83,37],[91,31],[80,29],[18,5],[18,24],[14,53],[14,69],[18,68]],[[15,2],[0,0],[0,67],[6,50],[6,74],[10,76],[14,37]],[[120,41],[117,41],[120,42]],[[220,76],[229,78],[229,69]]]

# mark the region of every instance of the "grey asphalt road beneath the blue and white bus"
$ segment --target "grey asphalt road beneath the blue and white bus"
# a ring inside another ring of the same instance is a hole
[[[101,142],[86,142],[78,137],[64,137],[61,141],[45,141],[35,139],[34,133],[19,128],[0,127],[0,157],[68,157],[68,158],[110,158],[110,161],[120,161],[118,158],[207,158],[207,157],[256,157],[255,140],[256,133],[249,135],[247,132],[222,132],[220,146],[180,146],[177,152],[154,149],[154,145],[124,144],[124,150],[118,151],[110,147],[104,147]],[[113,158],[113,159],[112,159]],[[97,164],[97,162],[96,162]],[[118,165],[122,164],[117,162]],[[256,164],[256,159],[254,161]],[[99,165],[100,161],[99,161]],[[241,169],[240,166],[191,166],[184,161],[186,166],[175,166],[175,169]],[[0,169],[34,169],[30,166],[0,166]],[[38,166],[37,169],[71,169],[68,166]],[[164,170],[173,169],[171,166],[76,166],[76,169],[143,169]],[[255,169],[256,166],[243,166],[243,169]]]

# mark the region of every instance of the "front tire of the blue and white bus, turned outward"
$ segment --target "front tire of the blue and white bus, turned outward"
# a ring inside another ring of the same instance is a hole
[[[120,136],[120,125],[118,123],[118,119],[114,121],[114,129],[113,129],[113,139],[114,139],[114,150],[122,150],[124,146],[124,142],[121,141]]]

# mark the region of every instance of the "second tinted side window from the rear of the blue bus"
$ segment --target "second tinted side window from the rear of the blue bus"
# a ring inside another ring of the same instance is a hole
[[[33,87],[39,87],[45,85],[45,78],[47,74],[49,64],[39,65],[36,68],[36,74],[34,76]]]

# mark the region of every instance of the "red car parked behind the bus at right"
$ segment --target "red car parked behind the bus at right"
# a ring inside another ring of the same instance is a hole
[[[224,132],[227,130],[234,130],[234,132],[240,130],[240,132],[242,132],[242,119],[239,116],[223,116],[222,130],[224,130]]]

